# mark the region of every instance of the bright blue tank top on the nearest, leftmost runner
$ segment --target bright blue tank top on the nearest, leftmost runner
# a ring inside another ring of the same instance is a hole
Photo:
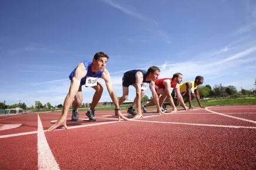
[[[84,76],[84,78],[81,79],[80,85],[86,84],[86,77],[87,76],[101,78],[101,75],[103,74],[104,70],[103,71],[98,71],[98,72],[96,72],[96,74],[93,74],[93,72],[91,72],[91,64],[92,63],[93,62],[83,61],[83,64],[84,64],[84,66],[86,67],[86,70],[87,70],[87,74],[86,74],[86,76]],[[71,72],[71,74],[69,76],[70,80],[72,80],[75,72],[76,72],[76,68]]]

